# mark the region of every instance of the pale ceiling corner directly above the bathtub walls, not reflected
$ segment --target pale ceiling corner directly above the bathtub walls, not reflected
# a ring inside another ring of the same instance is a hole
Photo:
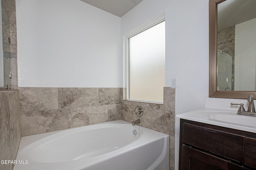
[[[142,0],[81,0],[106,12],[122,17]]]

